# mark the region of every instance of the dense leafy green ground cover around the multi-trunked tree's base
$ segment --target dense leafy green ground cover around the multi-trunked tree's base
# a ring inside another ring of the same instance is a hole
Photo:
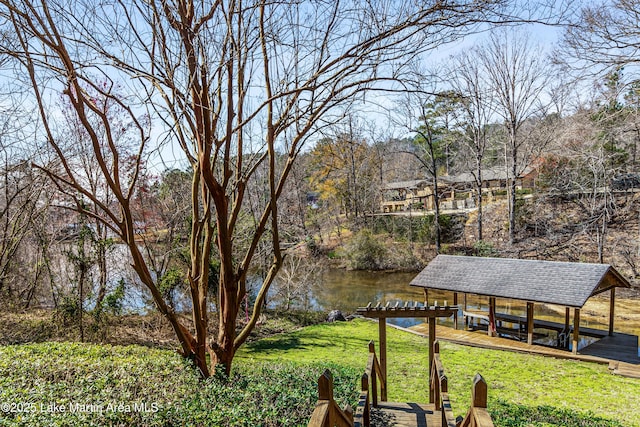
[[[238,363],[203,381],[177,353],[140,346],[0,347],[0,426],[298,426],[330,368],[335,395],[357,401],[359,373],[332,363]],[[204,383],[202,387],[195,385]]]

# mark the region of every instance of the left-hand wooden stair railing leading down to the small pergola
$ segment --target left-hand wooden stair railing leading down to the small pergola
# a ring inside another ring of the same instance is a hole
[[[387,401],[387,375],[380,366],[373,341],[369,341],[369,361],[361,378],[361,392],[354,417],[356,427],[371,425],[371,405],[378,406],[378,384],[380,384],[380,400]]]

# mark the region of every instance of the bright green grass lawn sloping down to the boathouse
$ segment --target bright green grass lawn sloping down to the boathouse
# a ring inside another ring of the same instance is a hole
[[[376,323],[320,324],[243,347],[244,361],[332,362],[364,370]],[[389,400],[428,402],[428,341],[387,329]],[[466,412],[474,375],[489,386],[497,426],[640,426],[640,380],[606,365],[441,344],[456,415]],[[499,419],[498,419],[499,418]]]

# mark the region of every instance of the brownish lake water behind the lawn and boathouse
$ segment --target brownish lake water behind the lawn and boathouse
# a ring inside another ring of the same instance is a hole
[[[271,308],[283,308],[289,306],[291,308],[300,308],[306,310],[319,310],[329,312],[331,310],[340,310],[345,315],[354,313],[358,307],[364,307],[369,302],[373,305],[378,302],[383,305],[390,302],[394,305],[400,302],[418,302],[424,304],[424,291],[421,288],[413,288],[409,286],[411,280],[417,273],[383,273],[368,271],[347,271],[344,269],[324,269],[305,278],[294,278],[284,280],[279,278],[273,285],[269,293],[268,305]],[[253,288],[254,292],[258,288],[261,280],[254,277],[249,281],[248,287]],[[137,301],[137,307],[140,308],[141,302],[146,301],[144,298],[146,291],[140,291],[134,301]],[[608,293],[604,296],[592,298],[592,300],[604,300],[606,309],[593,308],[585,306],[581,313],[581,326],[589,328],[597,328],[606,330],[608,328]],[[179,310],[188,310],[189,302],[186,298],[176,298]],[[453,304],[453,293],[429,291],[429,303],[433,305],[434,301],[438,301],[439,305],[444,305],[445,301],[448,305]],[[600,301],[602,302],[602,301]],[[630,303],[631,302],[631,303]],[[467,296],[468,310],[482,310],[488,312],[488,298],[478,296]],[[458,305],[463,306],[463,296],[459,296]],[[637,323],[625,322],[625,318],[629,318],[631,311],[640,311],[640,302],[634,303],[633,300],[624,300],[616,298],[616,306],[622,306],[616,309],[617,320],[615,329],[619,332],[639,334]],[[132,307],[133,308],[133,307]],[[526,316],[526,303],[522,301],[498,299],[496,310],[501,313],[513,314],[518,316]],[[625,312],[626,310],[626,312]],[[462,310],[459,311],[459,324],[462,324]],[[564,307],[549,306],[543,304],[535,305],[534,316],[536,319],[552,320],[555,322],[564,322]],[[573,313],[572,313],[573,317]],[[402,327],[414,326],[421,323],[421,319],[390,319],[390,323]],[[453,325],[452,319],[440,319],[440,324],[447,326]],[[547,339],[548,344],[555,341],[555,336]],[[544,342],[544,341],[543,341]],[[586,339],[581,343],[580,347],[589,343]]]

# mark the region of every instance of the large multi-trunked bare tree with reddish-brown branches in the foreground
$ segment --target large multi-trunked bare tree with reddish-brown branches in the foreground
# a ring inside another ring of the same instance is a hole
[[[128,246],[140,281],[172,325],[182,353],[208,376],[207,353],[211,363],[230,371],[282,265],[277,200],[305,142],[341,116],[357,94],[393,88],[407,58],[455,39],[477,22],[500,19],[495,12],[503,1],[356,1],[347,6],[320,1],[2,0],[0,5],[0,17],[19,39],[19,47],[12,44],[0,51],[26,71],[45,138],[61,162],[59,169],[42,169],[70,198],[98,207],[76,205]],[[126,81],[131,95],[117,93],[111,79]],[[55,132],[49,99],[59,92],[89,136],[111,204],[86,188]],[[105,109],[112,103],[122,108],[136,135],[126,168],[114,139],[116,125]],[[162,122],[193,171],[187,279],[195,331],[167,305],[136,242],[133,201],[145,154],[158,134],[146,120],[145,107],[156,123]],[[104,139],[95,120],[105,129]],[[279,163],[279,156],[286,161]],[[266,171],[264,198],[254,206],[259,215],[249,222],[248,240],[240,241],[239,227],[251,218],[246,216],[247,193],[255,182],[263,182],[253,179],[259,171]],[[247,274],[265,247],[270,265],[250,320],[237,331]],[[220,260],[218,333],[208,339],[213,256]]]

